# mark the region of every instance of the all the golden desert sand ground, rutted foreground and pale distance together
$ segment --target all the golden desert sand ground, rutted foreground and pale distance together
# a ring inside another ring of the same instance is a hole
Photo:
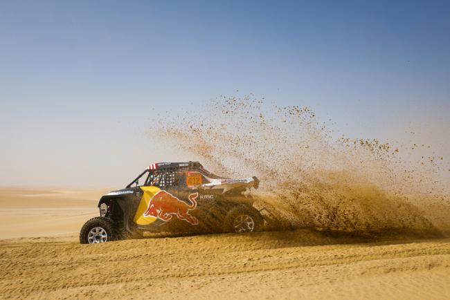
[[[106,189],[0,189],[0,298],[450,299],[450,238],[296,230],[80,245]]]

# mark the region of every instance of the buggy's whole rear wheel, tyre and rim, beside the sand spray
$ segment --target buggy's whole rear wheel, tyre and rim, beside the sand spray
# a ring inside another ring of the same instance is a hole
[[[249,205],[238,205],[226,214],[224,232],[259,232],[264,226],[260,212]]]

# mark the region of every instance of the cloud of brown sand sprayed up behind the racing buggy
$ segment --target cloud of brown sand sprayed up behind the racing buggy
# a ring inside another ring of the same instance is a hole
[[[308,106],[253,95],[221,96],[201,109],[201,118],[156,118],[160,142],[221,175],[258,176],[252,193],[282,228],[450,232],[450,165],[424,144],[411,158],[402,144],[334,133]]]

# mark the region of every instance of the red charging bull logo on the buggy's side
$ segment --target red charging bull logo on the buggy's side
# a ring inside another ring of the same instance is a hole
[[[197,225],[199,221],[195,216],[191,216],[189,211],[197,207],[197,197],[199,193],[190,194],[188,199],[191,205],[179,200],[179,198],[169,194],[167,191],[158,191],[150,199],[147,210],[143,213],[144,217],[153,216],[163,221],[169,221],[173,215],[192,225]]]

